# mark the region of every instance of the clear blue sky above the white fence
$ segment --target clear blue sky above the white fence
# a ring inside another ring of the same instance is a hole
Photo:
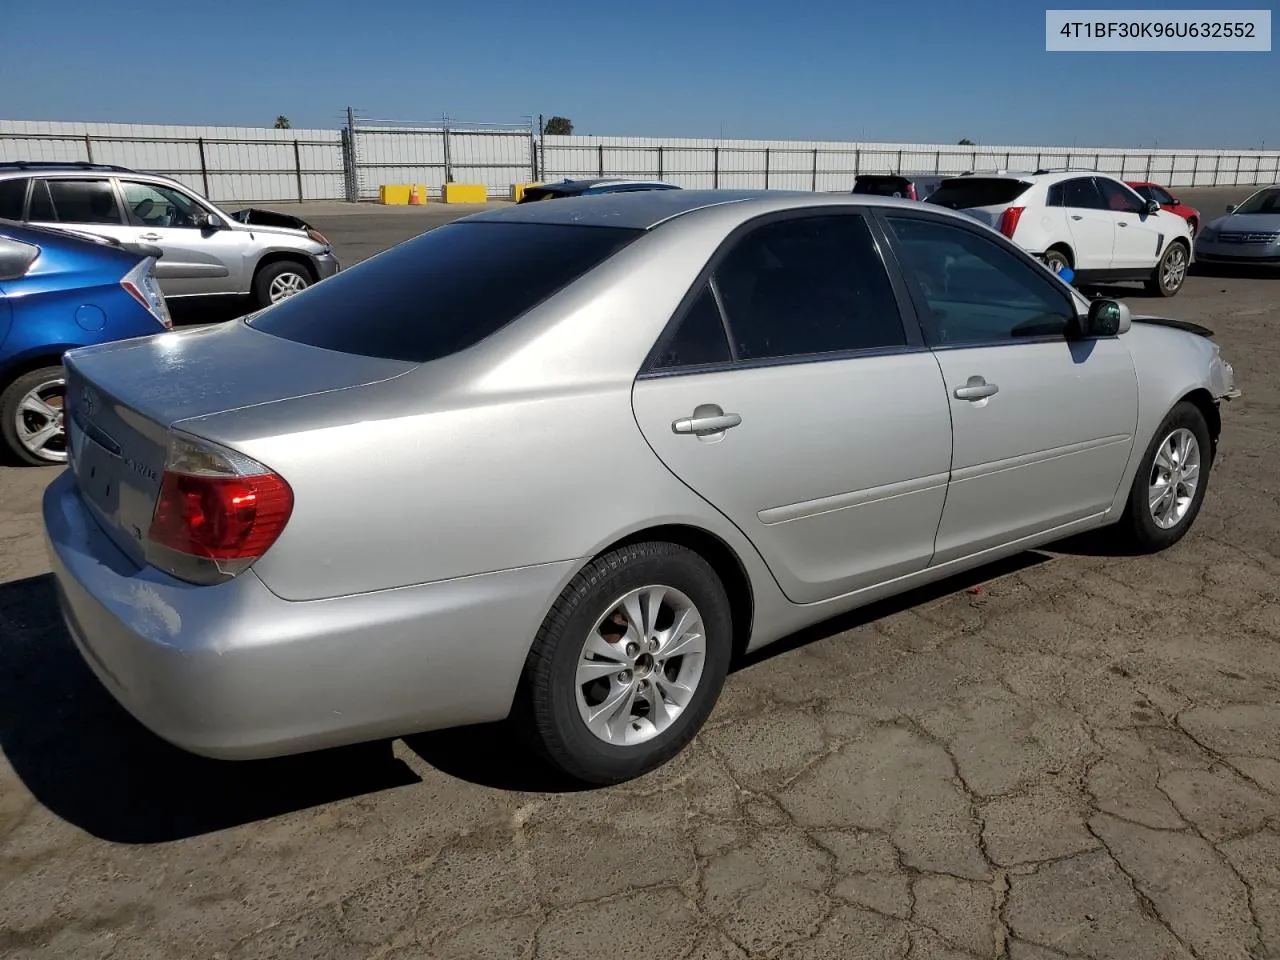
[[[1048,54],[1046,5],[1073,6],[12,0],[0,116],[335,127],[352,105],[595,134],[1280,147],[1280,54]]]

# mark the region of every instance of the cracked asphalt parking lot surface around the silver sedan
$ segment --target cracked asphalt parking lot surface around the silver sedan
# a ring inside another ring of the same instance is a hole
[[[311,219],[349,264],[426,210]],[[0,956],[1280,956],[1280,275],[1135,289],[1110,293],[1216,330],[1244,392],[1178,547],[1059,544],[769,648],[608,790],[488,727],[166,746],[59,623],[54,472],[0,470]]]

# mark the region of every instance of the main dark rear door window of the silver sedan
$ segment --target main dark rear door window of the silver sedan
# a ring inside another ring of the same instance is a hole
[[[740,360],[906,343],[897,301],[861,216],[776,220],[716,271]]]

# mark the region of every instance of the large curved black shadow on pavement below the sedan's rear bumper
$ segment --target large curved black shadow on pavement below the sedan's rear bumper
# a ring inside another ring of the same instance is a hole
[[[159,844],[420,782],[390,741],[238,763],[179,750],[99,684],[56,604],[51,575],[0,584],[0,750],[96,837]]]

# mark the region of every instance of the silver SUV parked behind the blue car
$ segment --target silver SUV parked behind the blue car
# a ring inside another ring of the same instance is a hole
[[[239,294],[264,307],[338,271],[307,224],[255,223],[257,212],[233,216],[169,177],[124,166],[0,163],[0,218],[159,247],[165,297]]]

